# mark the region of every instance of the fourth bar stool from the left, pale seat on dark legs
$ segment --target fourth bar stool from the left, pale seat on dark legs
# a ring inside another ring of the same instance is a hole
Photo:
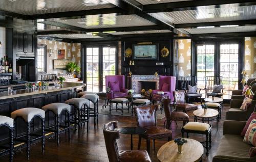
[[[65,103],[67,103],[75,108],[74,109],[75,112],[73,113],[73,119],[71,120],[71,123],[75,124],[75,127],[76,127],[76,125],[78,125],[78,137],[80,137],[82,123],[87,122],[87,132],[89,131],[90,101],[85,98],[71,98],[71,99],[65,101]],[[87,114],[86,114],[86,116],[84,116],[84,115],[82,115],[82,110],[86,110],[86,107],[87,107]],[[84,117],[84,118],[82,118],[82,117]]]

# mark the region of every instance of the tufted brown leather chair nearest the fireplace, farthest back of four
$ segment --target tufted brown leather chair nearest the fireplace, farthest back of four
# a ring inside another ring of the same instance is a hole
[[[173,95],[176,110],[181,110],[184,113],[186,113],[189,110],[197,110],[197,105],[186,103],[184,90],[174,91]]]

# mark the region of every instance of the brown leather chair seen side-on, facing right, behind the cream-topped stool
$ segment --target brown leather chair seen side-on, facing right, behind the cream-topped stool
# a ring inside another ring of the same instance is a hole
[[[169,99],[163,99],[163,109],[166,118],[166,120],[164,121],[164,123],[166,122],[165,128],[172,130],[172,121],[183,121],[184,126],[189,121],[189,116],[184,112],[172,112],[169,108],[169,104]]]

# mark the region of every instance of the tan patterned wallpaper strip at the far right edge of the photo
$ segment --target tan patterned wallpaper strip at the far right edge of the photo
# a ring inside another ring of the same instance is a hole
[[[246,79],[256,77],[256,37],[245,37],[244,70]]]

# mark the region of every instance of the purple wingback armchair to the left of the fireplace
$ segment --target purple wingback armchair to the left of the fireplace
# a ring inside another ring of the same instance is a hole
[[[110,83],[116,83],[119,82],[119,88],[120,88],[120,92],[114,92],[112,89],[110,91],[110,93],[106,94],[106,98],[108,100],[113,99],[113,98],[117,98],[117,97],[123,97],[127,95],[127,89],[124,88],[125,84],[124,84],[124,75],[107,75],[105,76],[105,80],[106,80],[106,88],[110,88]]]

